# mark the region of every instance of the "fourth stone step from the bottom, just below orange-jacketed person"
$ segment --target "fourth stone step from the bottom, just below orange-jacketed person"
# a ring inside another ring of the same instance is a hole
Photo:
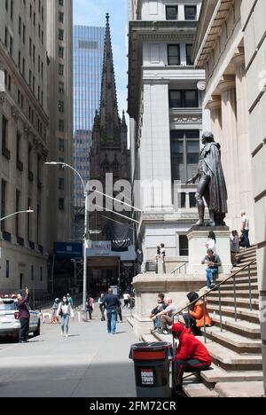
[[[240,334],[221,332],[220,327],[216,326],[207,328],[207,339],[215,341],[240,355],[243,353],[259,354],[262,352],[262,341],[260,339],[251,340]]]

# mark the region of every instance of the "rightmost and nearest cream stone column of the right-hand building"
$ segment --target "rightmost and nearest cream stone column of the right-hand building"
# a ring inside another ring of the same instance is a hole
[[[247,108],[247,89],[246,89],[246,67],[244,51],[240,50],[232,62],[236,70],[236,98],[237,98],[237,129],[238,129],[238,148],[239,148],[239,199],[241,210],[246,210],[246,215],[250,219],[250,239],[254,237],[254,198],[252,186],[252,167],[251,150],[249,143],[248,108]]]

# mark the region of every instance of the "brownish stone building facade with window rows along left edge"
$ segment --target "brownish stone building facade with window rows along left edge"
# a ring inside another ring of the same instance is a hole
[[[1,289],[47,287],[47,3],[0,4]]]

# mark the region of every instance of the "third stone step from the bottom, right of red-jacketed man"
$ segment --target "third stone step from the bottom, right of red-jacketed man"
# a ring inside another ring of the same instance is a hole
[[[223,347],[221,344],[214,341],[207,341],[206,345],[210,355],[213,358],[213,363],[216,366],[222,367],[225,371],[239,372],[239,371],[261,371],[262,370],[262,355],[239,355],[239,353]]]

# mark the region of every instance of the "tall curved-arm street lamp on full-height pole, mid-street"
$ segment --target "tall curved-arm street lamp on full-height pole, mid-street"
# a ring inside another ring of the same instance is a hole
[[[84,180],[80,173],[69,164],[58,162],[58,161],[50,161],[45,163],[47,166],[62,166],[65,168],[70,168],[74,171],[74,173],[79,176],[82,181],[83,191],[84,191],[84,198],[85,198],[85,221],[84,221],[84,237],[83,237],[83,293],[82,293],[82,311],[84,312],[84,316],[86,316],[86,296],[87,296],[87,247],[88,247],[88,192],[86,191],[86,186]]]

